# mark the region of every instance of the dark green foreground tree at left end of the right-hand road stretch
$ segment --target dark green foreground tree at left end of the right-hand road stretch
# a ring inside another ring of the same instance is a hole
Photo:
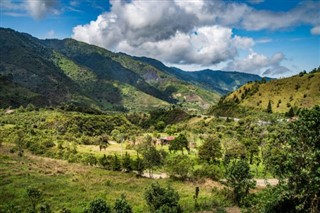
[[[233,161],[227,170],[227,183],[233,188],[234,201],[241,205],[243,199],[254,188],[256,183],[252,180],[249,164],[245,160]]]

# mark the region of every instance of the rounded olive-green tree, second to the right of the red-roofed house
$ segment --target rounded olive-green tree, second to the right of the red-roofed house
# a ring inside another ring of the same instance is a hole
[[[217,163],[222,157],[220,140],[214,137],[206,138],[202,146],[199,147],[198,156],[208,163]]]

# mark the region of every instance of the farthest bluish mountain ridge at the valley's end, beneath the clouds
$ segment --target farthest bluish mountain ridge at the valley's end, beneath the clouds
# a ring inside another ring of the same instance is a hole
[[[236,71],[220,71],[220,70],[200,70],[200,71],[183,71],[175,67],[167,67],[160,61],[146,57],[135,57],[135,59],[146,62],[159,70],[171,74],[176,78],[199,86],[201,88],[211,90],[226,95],[240,86],[250,81],[261,81],[262,77],[255,74],[241,73]],[[271,78],[265,78],[267,81]]]

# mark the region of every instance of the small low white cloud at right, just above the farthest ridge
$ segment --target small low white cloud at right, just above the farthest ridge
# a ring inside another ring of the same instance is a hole
[[[224,70],[237,70],[264,76],[279,76],[290,72],[287,67],[281,65],[283,60],[285,60],[285,55],[281,52],[267,57],[251,50],[246,58],[230,61],[224,67]]]

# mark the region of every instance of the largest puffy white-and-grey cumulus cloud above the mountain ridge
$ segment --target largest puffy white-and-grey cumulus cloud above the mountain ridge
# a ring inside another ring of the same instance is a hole
[[[207,1],[113,1],[111,12],[73,29],[73,38],[172,64],[212,65],[251,48],[251,38],[208,24]],[[193,9],[192,9],[193,8]]]

